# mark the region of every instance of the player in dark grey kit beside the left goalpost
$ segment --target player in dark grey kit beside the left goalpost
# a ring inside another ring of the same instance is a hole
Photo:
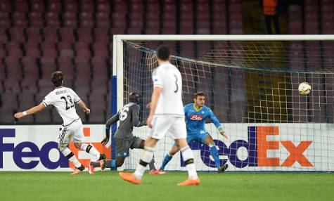
[[[107,160],[105,162],[106,167],[110,169],[117,169],[117,167],[122,166],[125,158],[129,156],[130,148],[144,148],[145,140],[132,134],[134,127],[142,127],[146,125],[146,121],[139,121],[139,109],[139,94],[132,92],[129,94],[129,103],[124,105],[124,107],[105,124],[105,138],[101,141],[103,145],[106,145],[110,139],[111,125],[120,121],[120,126],[115,134],[116,160]],[[150,174],[165,174],[165,172],[155,169],[154,159],[149,165]],[[98,162],[91,162],[89,165],[89,174],[94,174],[94,168],[100,166],[101,164]]]

